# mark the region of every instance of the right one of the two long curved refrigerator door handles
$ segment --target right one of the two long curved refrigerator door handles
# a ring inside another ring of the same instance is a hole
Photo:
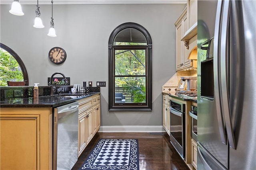
[[[222,29],[221,29],[221,40],[220,40],[220,70],[221,70],[221,100],[222,100],[222,111],[225,117],[226,130],[228,135],[228,142],[230,147],[236,149],[236,143],[234,139],[234,131],[231,119],[230,111],[230,100],[229,100],[229,85],[228,85],[228,45],[229,45],[229,17],[230,17],[230,1],[223,1],[223,13],[222,13]]]

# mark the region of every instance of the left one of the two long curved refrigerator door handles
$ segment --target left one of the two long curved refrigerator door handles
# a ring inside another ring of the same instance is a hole
[[[226,138],[226,131],[225,131],[225,125],[224,125],[224,117],[222,115],[221,111],[221,101],[220,101],[220,94],[221,94],[221,88],[220,88],[220,54],[219,54],[219,41],[220,41],[220,21],[222,16],[222,1],[218,1],[217,5],[217,12],[216,12],[216,21],[215,21],[215,32],[214,32],[214,98],[216,101],[216,113],[218,118],[218,127],[220,132],[220,138],[222,143],[227,144],[227,138]]]

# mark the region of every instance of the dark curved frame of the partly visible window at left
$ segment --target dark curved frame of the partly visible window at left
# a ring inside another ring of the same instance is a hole
[[[2,49],[4,49],[5,51],[7,51],[8,53],[10,53],[10,55],[12,55],[12,57],[14,57],[14,59],[16,59],[16,61],[18,62],[18,64],[20,65],[20,69],[22,71],[23,74],[23,80],[25,82],[25,86],[28,86],[29,82],[28,82],[28,72],[27,69],[22,61],[22,59],[20,59],[20,57],[18,56],[17,53],[15,53],[12,49],[10,49],[10,47],[0,43],[0,47]]]

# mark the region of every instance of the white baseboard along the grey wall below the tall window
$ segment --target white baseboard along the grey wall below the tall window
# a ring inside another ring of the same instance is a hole
[[[163,126],[100,126],[99,132],[166,132]]]

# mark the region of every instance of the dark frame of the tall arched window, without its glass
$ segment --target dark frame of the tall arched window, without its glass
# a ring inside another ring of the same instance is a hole
[[[126,28],[134,28],[143,33],[147,45],[114,45],[118,33]],[[146,103],[116,104],[114,100],[114,51],[120,48],[146,49]],[[109,111],[152,111],[152,39],[148,31],[140,24],[127,22],[116,27],[110,34],[108,41],[108,110]]]

